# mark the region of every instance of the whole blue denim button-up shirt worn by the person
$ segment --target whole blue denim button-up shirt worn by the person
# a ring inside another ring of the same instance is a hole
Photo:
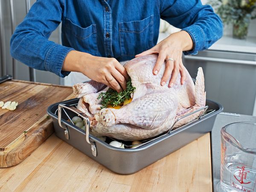
[[[62,64],[77,50],[118,61],[157,44],[160,18],[189,33],[197,54],[222,36],[222,22],[201,0],[37,0],[11,38],[12,56],[64,77]],[[62,45],[49,41],[62,22]]]

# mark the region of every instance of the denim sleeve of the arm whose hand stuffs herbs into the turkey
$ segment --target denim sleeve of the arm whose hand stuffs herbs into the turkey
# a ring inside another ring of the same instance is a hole
[[[63,7],[61,0],[37,0],[12,35],[11,55],[34,69],[67,76],[62,65],[74,49],[48,40],[61,23]]]

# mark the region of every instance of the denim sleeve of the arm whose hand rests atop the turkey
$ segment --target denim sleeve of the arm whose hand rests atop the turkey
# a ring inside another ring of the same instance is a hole
[[[160,0],[160,15],[171,25],[189,33],[193,49],[185,55],[195,55],[208,49],[223,35],[222,21],[209,5],[201,0]]]

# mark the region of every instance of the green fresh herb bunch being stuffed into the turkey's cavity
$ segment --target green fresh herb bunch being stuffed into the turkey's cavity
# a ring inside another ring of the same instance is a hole
[[[102,98],[101,109],[108,108],[108,105],[113,107],[121,104],[125,99],[131,98],[131,93],[134,93],[135,87],[131,84],[131,78],[127,81],[126,89],[118,93],[116,90],[109,88],[105,93],[100,93],[98,99]]]

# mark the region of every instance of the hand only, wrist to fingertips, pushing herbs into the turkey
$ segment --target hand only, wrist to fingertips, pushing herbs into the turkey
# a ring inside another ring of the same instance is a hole
[[[115,58],[91,56],[81,73],[90,79],[104,83],[120,92],[126,89],[129,76],[125,68]]]

